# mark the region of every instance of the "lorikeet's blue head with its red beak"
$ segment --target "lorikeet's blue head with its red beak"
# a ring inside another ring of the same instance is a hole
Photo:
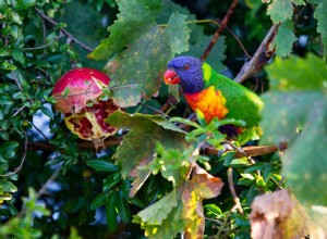
[[[168,62],[164,75],[166,84],[180,84],[184,93],[196,93],[204,89],[203,62],[193,56],[178,56]]]

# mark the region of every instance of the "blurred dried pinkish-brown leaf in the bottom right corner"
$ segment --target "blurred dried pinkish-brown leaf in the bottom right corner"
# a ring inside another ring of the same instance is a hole
[[[310,218],[287,190],[258,196],[252,203],[253,239],[302,238],[310,231]]]

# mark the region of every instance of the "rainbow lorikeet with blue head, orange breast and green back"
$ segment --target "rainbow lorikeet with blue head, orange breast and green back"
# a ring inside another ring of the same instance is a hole
[[[193,56],[178,56],[168,63],[166,84],[180,84],[193,111],[199,110],[207,123],[214,117],[243,120],[246,128],[261,121],[262,99],[246,87],[218,74]]]

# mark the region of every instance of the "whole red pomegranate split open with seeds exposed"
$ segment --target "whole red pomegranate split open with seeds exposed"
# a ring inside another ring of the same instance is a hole
[[[92,140],[96,147],[117,128],[105,120],[120,110],[111,99],[104,98],[110,78],[94,68],[75,68],[65,73],[55,85],[55,109],[64,114],[68,128],[81,139]]]

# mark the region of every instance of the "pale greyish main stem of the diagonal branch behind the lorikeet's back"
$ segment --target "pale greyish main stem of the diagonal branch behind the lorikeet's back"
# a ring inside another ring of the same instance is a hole
[[[271,39],[274,39],[274,36],[276,35],[278,27],[279,24],[275,24],[270,27],[268,34],[266,35],[265,39],[263,40],[263,42],[254,53],[253,58],[242,66],[240,73],[234,78],[237,83],[243,83],[249,76],[251,76],[254,72],[257,71],[256,67],[257,62],[262,53],[265,52],[265,49],[268,46],[268,43],[271,41]]]

